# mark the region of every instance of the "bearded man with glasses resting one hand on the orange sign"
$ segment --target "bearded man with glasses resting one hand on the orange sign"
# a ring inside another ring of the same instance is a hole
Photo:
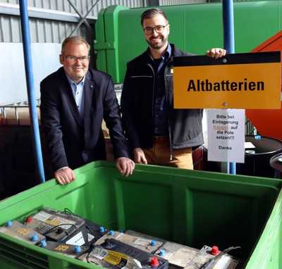
[[[128,63],[121,96],[125,134],[135,163],[192,169],[192,147],[203,144],[202,109],[173,108],[173,56],[190,56],[168,43],[164,11],[142,13],[141,25],[149,48]],[[207,56],[224,56],[211,49]]]

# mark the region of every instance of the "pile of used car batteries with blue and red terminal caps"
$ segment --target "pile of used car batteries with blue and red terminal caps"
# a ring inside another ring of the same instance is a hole
[[[238,260],[216,247],[168,242],[127,230],[117,232],[68,211],[43,208],[0,227],[0,232],[45,249],[111,269],[238,269]]]

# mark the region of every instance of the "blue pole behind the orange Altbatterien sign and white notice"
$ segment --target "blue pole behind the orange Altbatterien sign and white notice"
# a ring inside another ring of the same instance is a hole
[[[233,0],[222,1],[223,46],[228,54],[235,53]],[[236,163],[228,163],[227,173],[236,174]]]

